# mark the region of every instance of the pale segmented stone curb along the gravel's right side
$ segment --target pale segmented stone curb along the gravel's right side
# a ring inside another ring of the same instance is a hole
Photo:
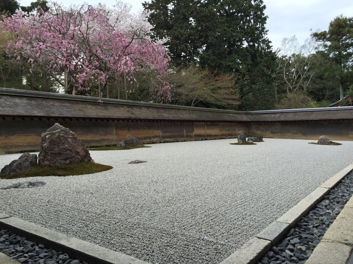
[[[263,257],[263,255],[271,249],[272,246],[277,245],[282,240],[282,238],[288,233],[288,231],[295,225],[297,225],[300,219],[313,207],[315,207],[316,204],[321,201],[322,198],[326,194],[328,194],[334,187],[336,187],[337,184],[339,184],[341,180],[352,170],[353,163],[348,165],[346,168],[344,168],[337,174],[335,174],[323,184],[321,184],[320,187],[318,187],[311,194],[309,194],[303,200],[297,203],[297,205],[289,209],[287,213],[283,214],[279,219],[277,219],[275,222],[266,227],[263,231],[258,233],[255,238],[252,238],[247,241],[237,251],[233,252],[229,257],[223,260],[221,264],[256,264]],[[351,205],[353,206],[353,203],[351,203]],[[351,216],[353,216],[353,208],[350,209],[352,209]],[[341,213],[339,214],[339,216],[341,215]],[[339,216],[337,216],[337,219],[335,221],[339,220]],[[331,226],[335,225],[335,221],[334,224],[332,224]],[[353,233],[352,223],[351,226]],[[323,239],[325,238],[325,235]]]

